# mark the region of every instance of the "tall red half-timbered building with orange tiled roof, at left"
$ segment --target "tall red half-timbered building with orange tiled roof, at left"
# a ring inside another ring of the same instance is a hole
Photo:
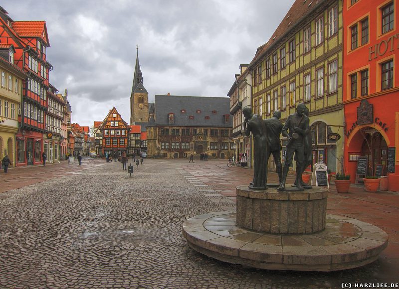
[[[12,44],[14,64],[28,78],[22,85],[22,104],[18,108],[20,130],[16,134],[17,166],[42,163],[46,133],[48,72],[52,66],[46,60],[50,46],[45,21],[13,21],[7,12],[0,10],[0,41]]]

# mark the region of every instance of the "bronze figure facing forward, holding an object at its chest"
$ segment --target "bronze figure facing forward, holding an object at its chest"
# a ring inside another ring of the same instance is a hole
[[[296,108],[296,113],[288,116],[287,121],[281,131],[284,137],[288,138],[286,157],[283,167],[283,175],[280,182],[279,190],[285,189],[285,181],[289,168],[296,156],[296,162],[298,169],[296,170],[296,178],[302,179],[302,172],[304,170],[305,161],[305,147],[304,137],[309,133],[309,118],[305,115],[306,106],[300,103]],[[302,183],[298,182],[298,190],[303,190]]]

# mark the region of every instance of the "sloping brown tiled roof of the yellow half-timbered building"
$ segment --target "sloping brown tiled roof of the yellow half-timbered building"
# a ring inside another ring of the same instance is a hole
[[[328,0],[295,0],[281,23],[278,25],[277,29],[271,35],[269,41],[258,47],[248,68],[251,68],[253,65],[257,64],[257,61],[262,58],[262,56],[265,55],[269,49],[275,49],[273,45],[275,43],[279,43],[279,40],[283,38],[284,35],[289,34],[292,29],[296,28],[295,26],[298,24],[298,22],[309,17],[309,15],[315,9],[327,2]]]

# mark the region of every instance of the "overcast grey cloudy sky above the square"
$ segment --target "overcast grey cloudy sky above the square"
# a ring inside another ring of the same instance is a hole
[[[13,20],[45,20],[50,83],[68,89],[72,122],[115,106],[129,123],[136,45],[149,102],[156,94],[226,96],[294,0],[6,0]]]

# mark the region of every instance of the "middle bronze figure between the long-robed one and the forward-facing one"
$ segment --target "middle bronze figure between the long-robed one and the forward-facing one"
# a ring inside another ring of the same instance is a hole
[[[275,111],[273,113],[273,117],[271,119],[264,120],[263,122],[266,125],[266,137],[269,142],[269,154],[267,156],[267,160],[270,157],[270,154],[273,154],[274,163],[276,164],[276,172],[278,174],[278,182],[281,183],[281,178],[283,174],[283,166],[281,164],[281,141],[280,134],[283,128],[283,124],[279,121],[281,118],[281,112]]]

